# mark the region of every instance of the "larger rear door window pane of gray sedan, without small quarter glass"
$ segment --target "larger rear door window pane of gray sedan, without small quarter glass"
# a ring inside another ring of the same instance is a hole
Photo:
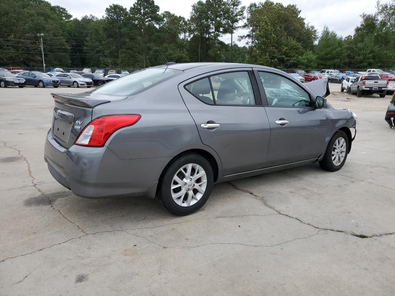
[[[210,80],[217,105],[255,105],[247,71],[213,75]]]

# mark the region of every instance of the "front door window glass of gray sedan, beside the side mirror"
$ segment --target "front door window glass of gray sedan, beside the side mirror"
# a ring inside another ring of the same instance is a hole
[[[271,106],[312,107],[310,96],[299,85],[273,73],[259,72]]]

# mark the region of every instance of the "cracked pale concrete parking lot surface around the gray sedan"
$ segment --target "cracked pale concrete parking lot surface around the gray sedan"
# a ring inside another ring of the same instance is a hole
[[[143,197],[82,199],[53,179],[50,93],[85,89],[2,89],[0,295],[393,295],[390,96],[330,88],[328,103],[360,123],[341,170],[216,184],[186,217]]]

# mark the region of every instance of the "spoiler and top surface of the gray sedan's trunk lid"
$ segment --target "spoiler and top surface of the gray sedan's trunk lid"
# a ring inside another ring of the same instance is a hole
[[[52,93],[51,96],[57,102],[85,108],[93,108],[100,104],[126,99],[126,97],[90,94],[88,92],[81,94]]]

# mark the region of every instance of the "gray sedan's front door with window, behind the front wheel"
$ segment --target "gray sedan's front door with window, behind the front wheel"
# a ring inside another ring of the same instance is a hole
[[[258,77],[271,128],[267,165],[319,157],[324,151],[326,116],[312,106],[310,93],[286,75],[258,71]]]

